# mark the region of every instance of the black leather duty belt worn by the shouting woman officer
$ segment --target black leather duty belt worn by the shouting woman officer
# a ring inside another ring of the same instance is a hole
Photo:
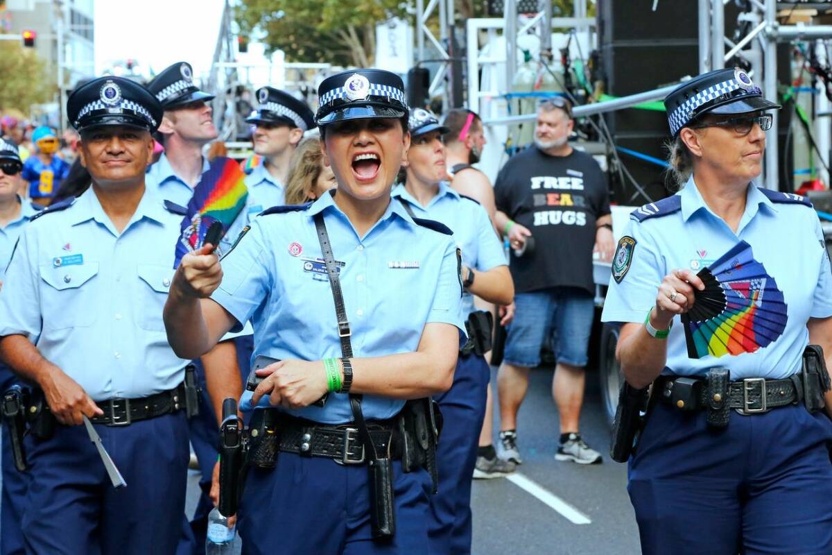
[[[264,410],[263,417],[267,432],[277,436],[279,451],[302,457],[333,458],[341,464],[367,462],[359,429],[354,425],[319,424],[270,409]],[[401,458],[399,430],[394,427],[394,420],[369,420],[367,429],[377,453]]]

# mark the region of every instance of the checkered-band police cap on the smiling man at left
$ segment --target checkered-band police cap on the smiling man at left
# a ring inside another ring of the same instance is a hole
[[[99,77],[67,98],[67,118],[77,131],[97,126],[131,126],[156,131],[159,101],[145,87],[124,77]]]

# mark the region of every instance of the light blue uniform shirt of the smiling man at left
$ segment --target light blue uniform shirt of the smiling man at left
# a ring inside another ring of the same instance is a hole
[[[31,221],[0,294],[0,335],[26,336],[95,400],[175,388],[188,361],[162,308],[181,219],[146,191],[119,233],[91,187]]]

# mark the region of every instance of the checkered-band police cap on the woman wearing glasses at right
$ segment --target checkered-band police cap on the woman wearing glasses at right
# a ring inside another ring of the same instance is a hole
[[[739,67],[703,73],[665,98],[672,136],[704,114],[745,114],[775,108],[780,105],[765,100],[760,87]]]

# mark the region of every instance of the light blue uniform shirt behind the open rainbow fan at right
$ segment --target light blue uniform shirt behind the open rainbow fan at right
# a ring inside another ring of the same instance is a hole
[[[782,193],[775,195],[790,198]],[[631,266],[621,283],[610,280],[602,320],[641,324],[647,310],[656,303],[661,280],[671,270],[686,268],[696,273],[745,240],[751,245],[754,260],[765,266],[783,292],[788,305],[785,331],[753,353],[690,359],[681,319],[676,316],[667,339],[664,374],[702,376],[715,366],[730,369],[731,379],[782,379],[800,372],[809,342],[806,322],[832,316],[832,270],[815,211],[803,204],[772,202],[752,184],[745,214],[734,233],[706,206],[693,178],[677,196],[681,210],[669,210],[666,216],[641,222],[631,216],[624,230],[624,235],[636,240]],[[661,202],[639,210],[642,214],[661,212]]]

